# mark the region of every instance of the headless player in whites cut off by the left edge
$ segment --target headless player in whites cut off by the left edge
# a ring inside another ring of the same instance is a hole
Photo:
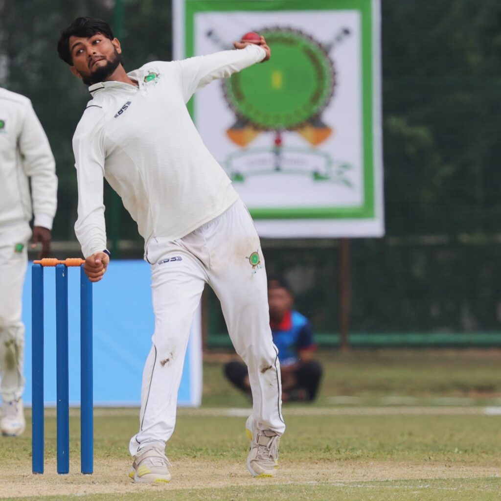
[[[31,181],[31,193],[30,193]],[[50,252],[58,181],[54,156],[31,101],[0,88],[0,394],[3,435],[25,429],[22,395],[25,326],[21,320],[27,244]]]

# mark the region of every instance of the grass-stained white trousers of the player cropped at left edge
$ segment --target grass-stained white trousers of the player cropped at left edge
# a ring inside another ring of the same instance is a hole
[[[21,320],[23,284],[28,264],[28,223],[0,227],[0,396],[23,395],[25,326]]]

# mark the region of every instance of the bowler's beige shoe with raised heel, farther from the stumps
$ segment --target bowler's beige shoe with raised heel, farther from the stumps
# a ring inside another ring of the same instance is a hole
[[[252,416],[247,418],[245,432],[250,440],[247,469],[256,477],[275,476],[279,467],[279,435],[272,430],[259,430]]]

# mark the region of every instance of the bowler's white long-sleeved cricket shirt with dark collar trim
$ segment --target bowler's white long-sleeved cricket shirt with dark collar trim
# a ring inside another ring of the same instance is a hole
[[[182,61],[145,64],[128,76],[138,87],[102,82],[73,138],[78,178],[75,233],[88,257],[106,248],[103,176],[137,222],[145,246],[175,240],[224,212],[237,198],[202,142],[186,103],[217,78],[266,56],[256,45]]]

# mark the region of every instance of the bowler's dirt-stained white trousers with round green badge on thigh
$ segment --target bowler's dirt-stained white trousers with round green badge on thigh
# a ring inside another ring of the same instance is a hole
[[[130,453],[164,446],[174,431],[189,329],[205,283],[219,298],[231,342],[248,367],[258,427],[282,435],[280,364],[270,329],[265,263],[243,202],[238,199],[178,240],[152,238],[146,258],[155,332],[143,372],[140,428],[130,440]]]

